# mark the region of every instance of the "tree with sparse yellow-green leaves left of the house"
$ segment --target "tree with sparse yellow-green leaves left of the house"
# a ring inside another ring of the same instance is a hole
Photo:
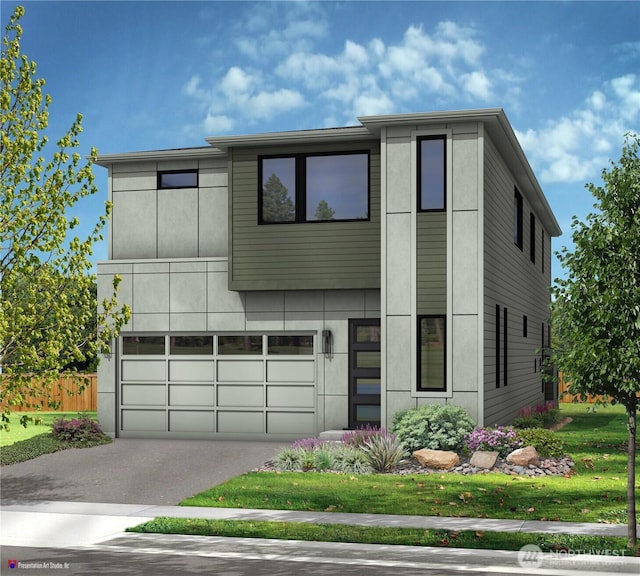
[[[113,295],[96,310],[89,258],[110,206],[85,239],[68,212],[95,194],[92,162],[77,149],[82,116],[50,150],[51,98],[36,64],[21,53],[24,8],[2,38],[0,63],[0,405],[3,425],[15,406],[47,403],[65,366],[106,352],[129,317]],[[49,160],[45,153],[51,152]],[[88,330],[95,326],[95,330]],[[79,378],[79,389],[83,380]],[[29,400],[35,397],[36,401]],[[53,402],[53,401],[52,401]],[[26,425],[24,417],[22,423]]]

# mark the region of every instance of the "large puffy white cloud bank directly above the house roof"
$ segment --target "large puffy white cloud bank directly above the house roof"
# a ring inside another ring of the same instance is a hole
[[[323,116],[316,126],[435,105],[486,105],[495,94],[518,98],[523,79],[483,64],[485,47],[473,28],[449,21],[431,30],[411,25],[396,42],[347,38],[332,53],[320,49],[327,34],[323,8],[310,4],[292,3],[291,14],[282,4],[257,8],[236,38],[241,56],[209,78],[192,77],[184,92],[206,103],[212,118],[248,123],[315,103]],[[265,17],[274,12],[282,20],[277,28]]]

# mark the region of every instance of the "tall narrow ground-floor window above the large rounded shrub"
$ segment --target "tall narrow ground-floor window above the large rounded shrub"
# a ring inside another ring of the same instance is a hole
[[[446,382],[446,318],[418,317],[418,391],[444,391]]]

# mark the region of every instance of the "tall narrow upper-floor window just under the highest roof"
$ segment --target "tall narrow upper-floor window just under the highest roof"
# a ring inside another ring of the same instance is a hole
[[[446,209],[446,137],[418,138],[418,209]]]

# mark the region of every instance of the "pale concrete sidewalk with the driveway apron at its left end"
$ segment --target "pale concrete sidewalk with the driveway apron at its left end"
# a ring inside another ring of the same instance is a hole
[[[0,543],[3,546],[28,547],[90,546],[122,536],[125,528],[136,526],[158,516],[621,537],[626,536],[627,530],[626,525],[621,524],[33,501],[2,506],[0,511]]]

